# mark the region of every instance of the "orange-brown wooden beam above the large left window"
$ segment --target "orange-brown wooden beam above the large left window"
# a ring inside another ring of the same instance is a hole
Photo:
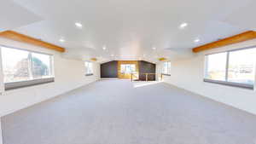
[[[18,41],[18,42],[29,43],[29,44],[36,45],[36,46],[39,46],[39,47],[44,47],[44,48],[47,48],[47,49],[56,50],[56,51],[59,51],[61,53],[65,52],[64,48],[56,46],[55,44],[47,43],[47,42],[38,40],[38,39],[33,38],[33,37],[29,37],[29,36],[26,36],[24,34],[14,32],[14,31],[0,32],[0,37],[9,38],[9,39],[12,39],[12,40],[15,40],[15,41]]]

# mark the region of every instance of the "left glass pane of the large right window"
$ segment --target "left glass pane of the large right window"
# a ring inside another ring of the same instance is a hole
[[[227,53],[207,55],[206,78],[225,80]]]

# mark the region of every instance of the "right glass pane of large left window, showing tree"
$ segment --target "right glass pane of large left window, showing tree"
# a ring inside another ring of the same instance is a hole
[[[51,75],[50,55],[32,53],[33,78],[49,78]]]

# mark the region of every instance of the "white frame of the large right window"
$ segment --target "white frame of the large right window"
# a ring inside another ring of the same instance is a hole
[[[245,50],[245,49],[256,49],[256,46],[251,46],[251,47],[246,47],[246,48],[241,48],[241,49],[232,49],[232,50],[226,50],[218,53],[212,53],[212,54],[207,54],[205,55],[205,68],[204,68],[204,82],[207,83],[212,83],[212,84],[223,84],[223,85],[228,85],[228,86],[234,86],[234,87],[239,87],[239,88],[245,88],[245,89],[254,89],[254,86],[256,84],[256,66],[254,66],[255,74],[254,74],[254,84],[241,84],[241,83],[236,83],[236,82],[229,82],[228,81],[228,76],[229,76],[229,64],[230,64],[230,52],[234,51],[240,51],[240,50]],[[226,53],[226,66],[225,66],[225,80],[213,80],[207,78],[207,56],[208,55],[215,55],[215,54],[220,54],[220,53]]]

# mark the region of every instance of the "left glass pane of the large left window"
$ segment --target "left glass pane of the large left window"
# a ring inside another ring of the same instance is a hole
[[[29,52],[2,47],[4,83],[31,79]]]

